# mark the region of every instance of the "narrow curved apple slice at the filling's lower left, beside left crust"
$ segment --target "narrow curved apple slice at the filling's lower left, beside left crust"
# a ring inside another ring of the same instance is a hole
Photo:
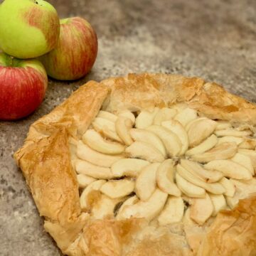
[[[80,206],[82,210],[88,210],[90,208],[90,194],[92,191],[99,191],[101,186],[106,183],[104,180],[93,181],[83,191],[80,196]]]

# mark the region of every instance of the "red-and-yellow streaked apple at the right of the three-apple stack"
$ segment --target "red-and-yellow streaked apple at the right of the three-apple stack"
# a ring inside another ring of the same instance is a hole
[[[60,20],[58,45],[39,59],[51,78],[75,80],[92,68],[97,57],[97,36],[90,23],[80,17]]]

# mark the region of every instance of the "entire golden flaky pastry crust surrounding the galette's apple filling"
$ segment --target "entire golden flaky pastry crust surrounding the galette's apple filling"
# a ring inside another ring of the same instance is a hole
[[[146,220],[90,220],[82,213],[78,182],[70,164],[68,137],[80,139],[100,108],[137,111],[186,102],[210,119],[256,124],[256,105],[201,78],[181,75],[129,74],[81,86],[29,129],[14,158],[45,228],[66,255],[255,255],[256,196],[221,211],[206,228],[156,228]],[[189,245],[190,246],[189,246]]]

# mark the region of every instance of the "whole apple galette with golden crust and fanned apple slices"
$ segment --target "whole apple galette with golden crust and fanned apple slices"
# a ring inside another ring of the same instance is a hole
[[[15,154],[66,255],[256,255],[256,106],[200,78],[87,82]]]

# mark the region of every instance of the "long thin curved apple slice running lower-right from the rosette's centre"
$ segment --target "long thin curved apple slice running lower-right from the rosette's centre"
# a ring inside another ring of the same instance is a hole
[[[214,194],[222,194],[225,192],[225,188],[223,188],[220,183],[206,183],[201,180],[201,178],[198,178],[197,176],[194,176],[189,171],[187,171],[185,168],[183,168],[180,164],[176,166],[177,173],[186,179],[186,181],[189,181],[193,183],[196,186],[200,186],[201,188],[204,188],[206,191]]]

